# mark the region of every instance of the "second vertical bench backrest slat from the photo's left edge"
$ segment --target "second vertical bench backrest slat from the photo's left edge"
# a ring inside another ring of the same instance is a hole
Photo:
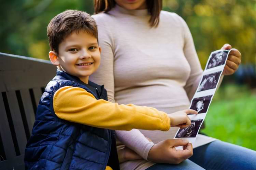
[[[27,138],[24,130],[24,125],[22,122],[22,117],[19,111],[19,105],[16,98],[15,91],[8,91],[7,93],[8,103],[10,105],[10,111],[12,115],[12,121],[14,124],[14,129],[18,141],[20,154],[24,154],[25,147],[27,144]]]

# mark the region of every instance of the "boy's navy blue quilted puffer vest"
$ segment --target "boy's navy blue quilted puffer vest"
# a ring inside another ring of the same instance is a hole
[[[94,94],[79,78],[57,70],[37,108],[32,135],[25,150],[26,169],[104,170],[107,165],[119,169],[113,131],[72,123],[55,115],[53,96],[64,86],[80,87],[96,99],[107,100],[103,86],[93,82],[89,85],[96,88],[98,94]]]

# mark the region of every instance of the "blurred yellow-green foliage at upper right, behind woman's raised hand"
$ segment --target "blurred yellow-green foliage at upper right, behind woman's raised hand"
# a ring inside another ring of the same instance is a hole
[[[256,63],[255,0],[163,0],[163,9],[184,18],[205,67],[211,51],[229,43],[243,63]]]

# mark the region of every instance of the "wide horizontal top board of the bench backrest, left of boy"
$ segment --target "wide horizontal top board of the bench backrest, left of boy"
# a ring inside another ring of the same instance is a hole
[[[49,61],[47,62],[49,63]],[[5,88],[7,91],[40,88],[46,86],[55,75],[56,67],[52,64],[0,53],[0,76],[3,82],[0,82],[0,90]]]

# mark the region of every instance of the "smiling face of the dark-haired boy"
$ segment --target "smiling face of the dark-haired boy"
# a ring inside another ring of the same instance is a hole
[[[85,31],[73,32],[59,44],[59,68],[88,83],[89,75],[100,65],[97,39]]]

